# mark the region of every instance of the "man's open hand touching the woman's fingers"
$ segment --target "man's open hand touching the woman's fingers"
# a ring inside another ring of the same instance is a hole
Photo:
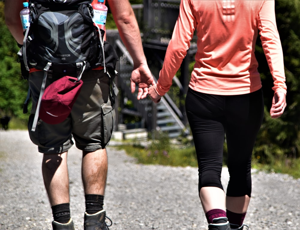
[[[148,95],[148,87],[155,85],[150,69],[146,64],[132,71],[130,78],[131,93],[134,93],[136,84],[138,84],[139,87],[137,100],[146,98]]]

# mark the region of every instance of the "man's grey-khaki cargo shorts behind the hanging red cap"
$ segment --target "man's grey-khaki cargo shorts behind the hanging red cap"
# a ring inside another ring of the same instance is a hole
[[[59,124],[39,121],[35,132],[31,131],[44,72],[32,72],[29,86],[32,94],[32,110],[28,122],[30,139],[38,151],[59,154],[74,144],[78,149],[93,152],[104,149],[111,138],[115,123],[115,110],[110,100],[110,78],[103,70],[91,70],[82,75],[83,85],[73,105],[71,114]],[[46,86],[57,79],[47,77]]]

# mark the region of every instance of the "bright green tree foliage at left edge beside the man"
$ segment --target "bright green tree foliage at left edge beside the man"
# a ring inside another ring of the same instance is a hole
[[[28,82],[21,77],[17,62],[19,48],[4,22],[4,2],[0,2],[0,116],[9,115],[27,119],[22,108]]]

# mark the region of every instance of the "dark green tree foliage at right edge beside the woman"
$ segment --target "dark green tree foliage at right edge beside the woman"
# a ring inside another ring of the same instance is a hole
[[[277,28],[283,48],[287,107],[284,114],[271,119],[274,92],[270,74],[260,39],[257,40],[256,57],[259,62],[265,100],[265,117],[256,140],[254,157],[261,163],[272,163],[275,159],[299,157],[300,152],[300,1],[275,1]]]

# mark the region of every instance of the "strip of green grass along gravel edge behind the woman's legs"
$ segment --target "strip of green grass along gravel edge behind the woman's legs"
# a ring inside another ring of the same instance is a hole
[[[161,164],[169,166],[191,166],[198,167],[197,156],[192,141],[180,144],[171,144],[165,134],[155,134],[155,140],[151,140],[146,146],[139,141],[124,141],[122,145],[116,146],[117,149],[125,150],[127,155],[137,159],[139,164]],[[226,152],[226,144],[224,151]],[[299,158],[277,158],[272,163],[261,163],[262,159],[254,158],[252,168],[274,173],[285,173],[293,176],[295,179],[300,178],[300,159]],[[224,154],[224,162],[227,155]],[[226,164],[224,163],[224,166]]]

